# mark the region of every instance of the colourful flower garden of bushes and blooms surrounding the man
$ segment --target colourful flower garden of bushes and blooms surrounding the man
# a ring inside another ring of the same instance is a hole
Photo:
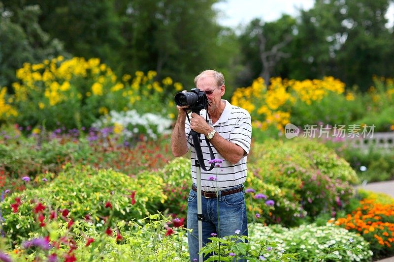
[[[189,261],[190,158],[174,158],[169,142],[173,96],[186,87],[156,74],[119,78],[99,58],[59,56],[25,63],[12,93],[0,88],[0,261]],[[333,77],[272,78],[268,86],[257,78],[234,90],[231,104],[253,120],[249,236],[212,235],[204,254],[394,256],[394,199],[356,189],[394,179],[393,150],[355,149],[334,129],[353,126],[358,138],[363,128],[394,130],[393,80],[373,80],[367,92]],[[286,139],[288,123],[329,132]]]

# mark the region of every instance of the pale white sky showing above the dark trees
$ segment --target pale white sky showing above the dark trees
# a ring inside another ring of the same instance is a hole
[[[270,22],[280,18],[283,13],[296,17],[299,9],[308,10],[314,2],[315,0],[223,0],[214,7],[219,10],[219,24],[235,29],[239,25],[247,25],[254,18]],[[393,2],[386,17],[389,19],[388,27],[393,27]]]

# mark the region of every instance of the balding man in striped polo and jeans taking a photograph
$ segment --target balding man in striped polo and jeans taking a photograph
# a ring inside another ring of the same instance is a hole
[[[246,156],[249,153],[252,137],[251,117],[239,107],[222,100],[226,86],[223,74],[214,70],[201,72],[194,80],[195,86],[204,91],[208,98],[208,112],[202,110],[200,115],[191,114],[186,121],[186,107],[179,107],[172,135],[171,149],[174,156],[186,154],[191,147],[192,138],[188,136],[191,129],[202,134],[201,149],[205,165],[210,160],[206,141],[213,146],[217,159],[223,159],[220,168],[205,172],[201,170],[202,242],[208,237],[223,237],[235,232],[247,235],[246,206],[243,183],[246,180]],[[205,117],[208,114],[208,122]],[[205,137],[204,137],[205,136]],[[192,147],[193,186],[188,198],[187,227],[193,229],[188,235],[190,260],[198,259],[198,224],[197,224],[197,189],[196,150]],[[219,209],[217,209],[217,200]]]

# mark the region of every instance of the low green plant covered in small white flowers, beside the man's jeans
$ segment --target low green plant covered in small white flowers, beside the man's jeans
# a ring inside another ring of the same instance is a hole
[[[302,225],[287,229],[280,225],[264,227],[256,224],[255,230],[250,233],[251,241],[266,239],[277,245],[272,248],[272,254],[283,250],[297,253],[298,261],[370,261],[372,252],[369,244],[358,234],[328,224],[316,226],[315,224]],[[264,256],[267,259],[271,256]]]

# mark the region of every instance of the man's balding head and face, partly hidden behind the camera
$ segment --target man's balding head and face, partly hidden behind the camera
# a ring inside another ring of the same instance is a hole
[[[208,98],[208,112],[217,109],[222,101],[225,86],[218,87],[216,79],[210,75],[202,75],[197,81],[197,88],[204,91]]]

